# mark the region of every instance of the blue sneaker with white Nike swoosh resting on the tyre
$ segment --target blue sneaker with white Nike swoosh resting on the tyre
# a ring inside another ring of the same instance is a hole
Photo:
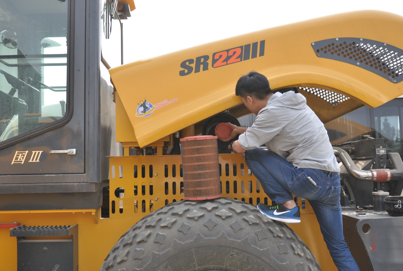
[[[283,204],[266,205],[259,203],[258,209],[262,214],[265,214],[272,220],[277,220],[285,223],[299,223],[301,222],[299,214],[299,206],[288,209]]]

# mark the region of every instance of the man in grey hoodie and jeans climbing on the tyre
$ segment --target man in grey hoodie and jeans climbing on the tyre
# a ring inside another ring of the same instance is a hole
[[[239,78],[235,94],[254,114],[250,128],[231,125],[235,153],[245,162],[272,200],[258,209],[272,220],[299,223],[293,194],[307,199],[315,211],[330,255],[339,271],[359,271],[343,236],[340,167],[323,123],[302,94],[273,93],[267,78],[250,72]],[[257,148],[266,144],[268,151]]]

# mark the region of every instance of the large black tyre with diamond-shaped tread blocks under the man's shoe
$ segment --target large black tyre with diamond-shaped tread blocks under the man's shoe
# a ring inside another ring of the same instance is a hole
[[[283,222],[238,200],[173,202],[120,237],[101,271],[316,271],[310,250]]]

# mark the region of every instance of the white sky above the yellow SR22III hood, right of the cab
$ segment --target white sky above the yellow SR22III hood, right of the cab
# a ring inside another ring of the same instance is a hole
[[[124,63],[164,55],[252,31],[353,10],[403,16],[403,0],[135,0],[123,20]],[[393,26],[391,26],[393,28]],[[118,29],[112,29],[112,32]],[[110,63],[116,66],[120,63]]]

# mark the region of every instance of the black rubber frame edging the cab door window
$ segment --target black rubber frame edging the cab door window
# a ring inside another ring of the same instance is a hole
[[[73,11],[73,12],[72,12]],[[66,74],[66,91],[68,94],[66,95],[66,114],[60,118],[60,120],[56,120],[49,124],[37,127],[33,130],[25,132],[23,134],[19,134],[15,137],[7,139],[5,141],[0,142],[0,150],[11,145],[15,145],[32,137],[36,137],[39,134],[43,134],[50,130],[59,128],[60,126],[64,126],[67,124],[71,118],[73,117],[73,88],[74,88],[74,35],[75,35],[75,0],[69,0],[67,6],[67,41],[69,44],[67,46],[67,74]]]

